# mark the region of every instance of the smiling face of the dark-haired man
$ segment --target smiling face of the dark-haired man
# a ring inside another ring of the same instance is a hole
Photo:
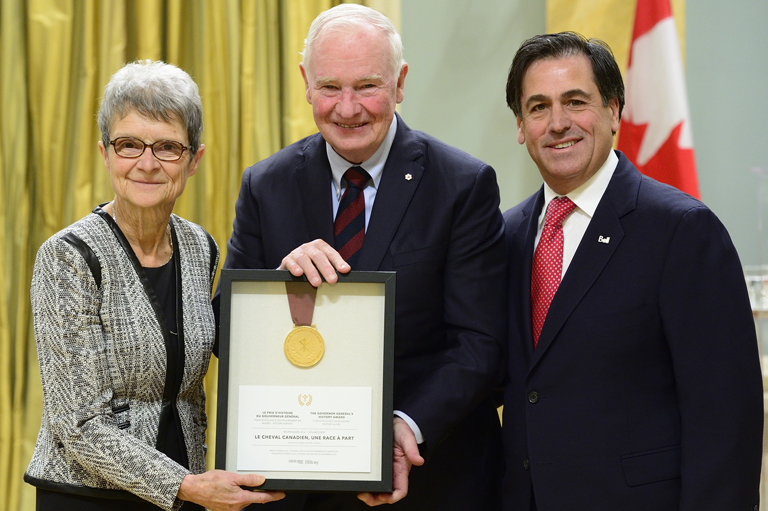
[[[616,98],[603,105],[589,59],[578,54],[532,63],[523,77],[517,141],[544,181],[565,195],[608,158],[619,129]]]

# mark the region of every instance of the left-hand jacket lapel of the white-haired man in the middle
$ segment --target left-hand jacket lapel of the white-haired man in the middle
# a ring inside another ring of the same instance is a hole
[[[323,239],[333,246],[333,205],[331,204],[331,164],[320,135],[304,146],[307,159],[296,168],[294,179],[299,187],[304,218],[311,239]]]

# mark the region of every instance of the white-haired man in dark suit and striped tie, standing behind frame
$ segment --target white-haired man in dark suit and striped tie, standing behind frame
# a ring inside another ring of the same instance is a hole
[[[397,272],[395,491],[358,497],[398,509],[498,509],[490,392],[502,369],[506,267],[495,172],[395,113],[408,64],[380,13],[325,11],[303,57],[320,133],[246,169],[224,267],[279,266],[313,286],[336,282],[337,271]],[[289,494],[272,507],[365,506],[354,495]]]

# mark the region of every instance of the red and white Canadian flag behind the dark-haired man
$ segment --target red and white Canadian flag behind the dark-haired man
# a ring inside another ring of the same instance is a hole
[[[618,149],[640,172],[699,197],[683,62],[669,0],[638,0]]]

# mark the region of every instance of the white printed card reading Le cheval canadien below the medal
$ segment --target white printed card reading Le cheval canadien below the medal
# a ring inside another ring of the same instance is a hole
[[[239,390],[238,470],[371,471],[370,387]]]

